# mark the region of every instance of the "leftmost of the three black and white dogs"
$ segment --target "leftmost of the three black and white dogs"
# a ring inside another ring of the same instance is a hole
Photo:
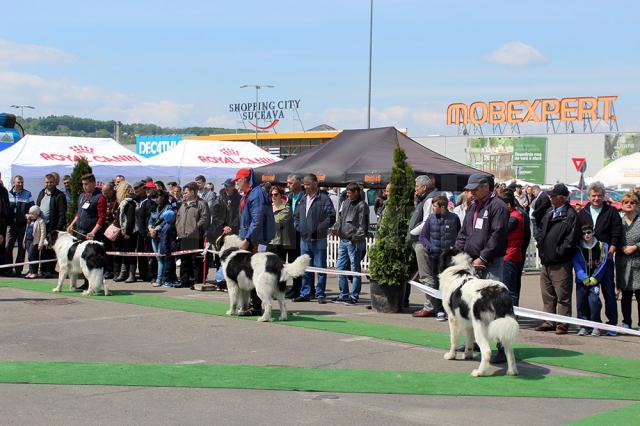
[[[104,284],[104,267],[107,264],[107,252],[104,245],[98,241],[79,241],[67,232],[58,232],[58,238],[53,246],[58,259],[58,286],[53,289],[59,292],[64,279],[69,276],[69,290],[76,288],[78,276],[84,275],[89,281],[89,288],[82,292],[91,296],[104,290],[109,294]]]

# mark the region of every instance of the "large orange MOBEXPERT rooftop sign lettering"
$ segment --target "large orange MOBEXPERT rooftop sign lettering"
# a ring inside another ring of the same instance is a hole
[[[473,102],[450,104],[447,107],[447,124],[503,124],[540,123],[548,118],[560,121],[616,120],[613,101],[617,96],[535,99],[513,101]]]

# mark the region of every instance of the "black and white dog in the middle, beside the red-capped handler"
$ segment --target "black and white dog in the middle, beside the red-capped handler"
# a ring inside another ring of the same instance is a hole
[[[278,300],[280,306],[280,321],[286,321],[285,289],[293,278],[304,274],[309,266],[309,256],[302,255],[293,263],[283,263],[273,253],[240,250],[240,242],[236,235],[225,235],[217,244],[229,293],[227,315],[244,312],[249,303],[251,290],[255,288],[264,308],[264,314],[258,321],[269,321],[271,318],[273,298]]]

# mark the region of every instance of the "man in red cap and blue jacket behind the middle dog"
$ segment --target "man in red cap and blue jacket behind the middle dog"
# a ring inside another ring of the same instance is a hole
[[[233,179],[242,193],[240,200],[240,248],[253,253],[266,251],[267,245],[276,235],[276,222],[269,194],[257,185],[252,169],[240,169]],[[262,315],[262,301],[256,290],[251,290],[251,308],[244,315]]]

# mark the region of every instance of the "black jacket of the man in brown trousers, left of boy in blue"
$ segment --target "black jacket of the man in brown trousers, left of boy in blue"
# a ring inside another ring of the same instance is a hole
[[[551,209],[542,218],[538,255],[543,265],[558,265],[571,262],[580,240],[578,214],[569,203],[565,203],[559,216],[553,218]]]

